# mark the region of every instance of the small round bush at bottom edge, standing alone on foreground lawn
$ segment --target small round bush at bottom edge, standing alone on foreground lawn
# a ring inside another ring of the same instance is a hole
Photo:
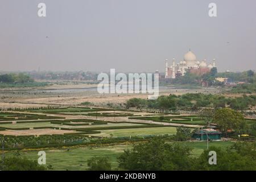
[[[106,157],[96,157],[87,160],[89,171],[110,171],[111,163],[109,158]]]

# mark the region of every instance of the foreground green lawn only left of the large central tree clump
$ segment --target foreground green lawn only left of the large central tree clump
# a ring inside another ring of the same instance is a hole
[[[68,150],[46,150],[46,163],[52,165],[53,170],[86,170],[87,160],[93,156],[106,156],[112,162],[112,168],[118,167],[117,157],[129,146],[116,145],[105,147],[70,148]],[[6,156],[13,156],[14,152],[7,152]],[[38,160],[38,151],[20,151],[20,156]]]

